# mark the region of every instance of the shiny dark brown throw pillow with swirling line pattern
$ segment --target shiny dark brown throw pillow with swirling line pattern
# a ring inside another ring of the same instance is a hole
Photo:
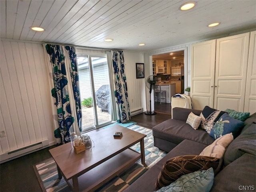
[[[215,157],[205,157],[199,155],[182,155],[167,160],[155,184],[156,190],[163,186],[168,186],[180,176],[195,172],[198,170],[207,170],[212,167],[216,170],[219,166],[220,159]]]

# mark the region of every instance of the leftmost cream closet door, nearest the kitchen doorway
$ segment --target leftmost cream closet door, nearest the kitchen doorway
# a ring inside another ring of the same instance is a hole
[[[191,98],[193,108],[213,107],[216,40],[192,45]]]

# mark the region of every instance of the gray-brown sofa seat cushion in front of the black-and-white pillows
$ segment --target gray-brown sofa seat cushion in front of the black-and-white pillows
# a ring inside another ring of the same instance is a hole
[[[185,121],[169,119],[152,128],[154,137],[179,144],[184,139],[210,145],[213,139],[203,129],[194,130]]]

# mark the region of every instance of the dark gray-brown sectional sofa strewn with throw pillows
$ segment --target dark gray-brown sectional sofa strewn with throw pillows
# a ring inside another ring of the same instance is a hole
[[[180,155],[199,155],[214,139],[203,129],[194,130],[186,123],[190,112],[200,115],[200,110],[174,108],[172,119],[152,128],[154,145],[167,151],[167,155],[132,183],[126,192],[152,192],[164,163]],[[252,114],[240,135],[228,145],[223,166],[214,176],[211,191],[234,192],[256,190],[256,113]]]

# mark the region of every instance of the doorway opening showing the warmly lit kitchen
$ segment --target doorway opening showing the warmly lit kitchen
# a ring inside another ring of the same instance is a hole
[[[154,110],[158,113],[171,115],[172,96],[177,93],[184,94],[184,80],[187,75],[184,72],[185,51],[186,49],[152,55],[153,75],[158,78],[162,90],[166,90],[166,98],[160,96],[161,102],[154,96]]]

